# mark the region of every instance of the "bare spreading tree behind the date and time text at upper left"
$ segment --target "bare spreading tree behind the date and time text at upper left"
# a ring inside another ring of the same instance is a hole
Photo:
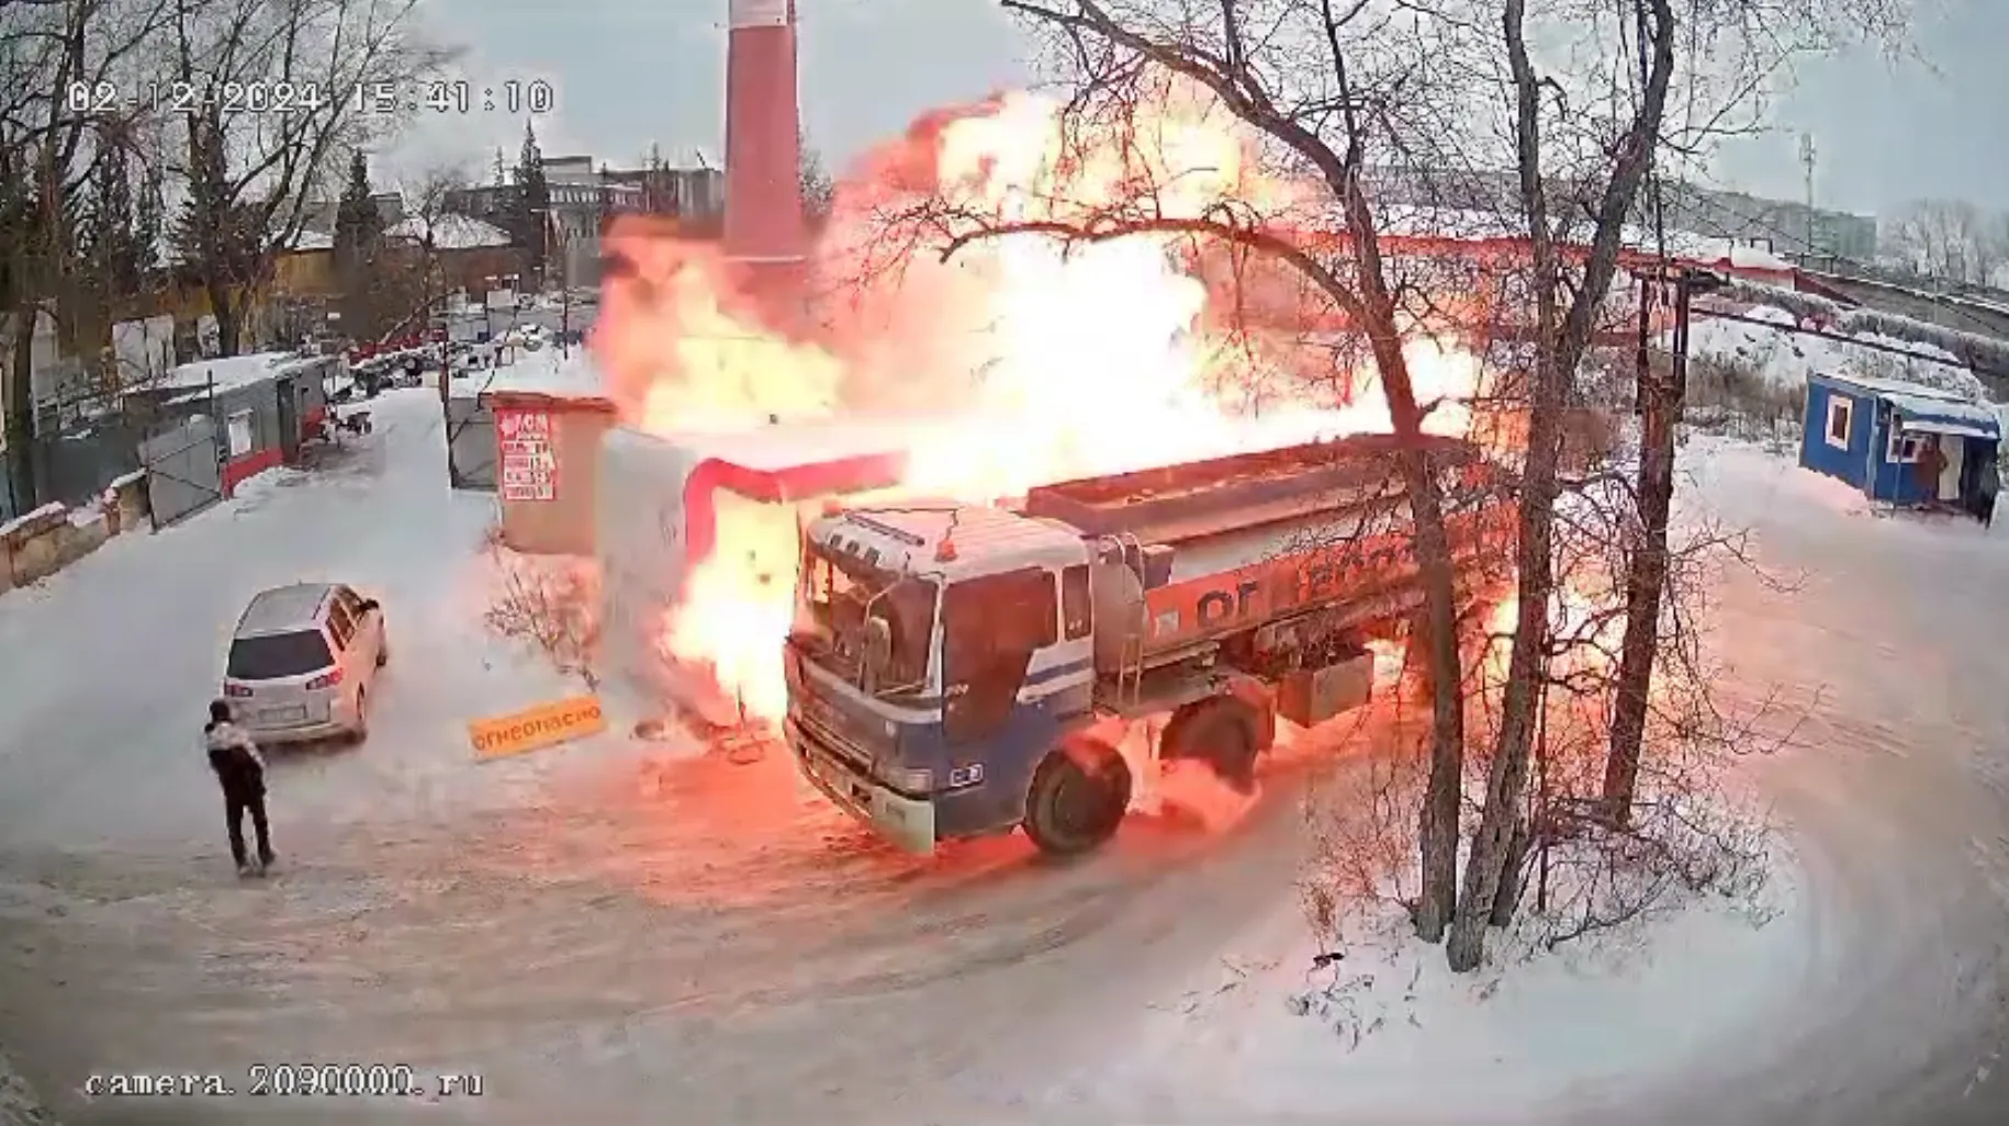
[[[225,355],[241,347],[245,301],[299,237],[338,159],[388,128],[398,92],[446,62],[418,38],[414,6],[177,0],[167,88],[189,102],[177,235]]]

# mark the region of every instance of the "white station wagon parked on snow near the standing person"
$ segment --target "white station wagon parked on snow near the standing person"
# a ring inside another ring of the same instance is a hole
[[[231,634],[223,696],[259,743],[370,737],[370,690],[390,660],[384,608],[350,586],[259,592]]]

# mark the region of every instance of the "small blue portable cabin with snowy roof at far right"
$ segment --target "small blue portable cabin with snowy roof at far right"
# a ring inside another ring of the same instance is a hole
[[[1868,375],[1810,375],[1802,424],[1800,466],[1905,508],[1969,508],[2001,446],[1995,407]],[[1919,462],[1935,448],[1945,466],[1927,482]]]

